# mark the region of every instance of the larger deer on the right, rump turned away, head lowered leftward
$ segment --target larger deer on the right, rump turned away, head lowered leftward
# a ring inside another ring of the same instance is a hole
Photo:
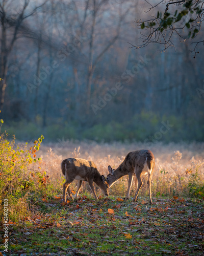
[[[112,169],[108,166],[109,175],[107,176],[107,182],[111,187],[122,176],[129,175],[128,189],[125,200],[130,198],[130,190],[133,182],[133,177],[136,175],[135,187],[136,193],[133,201],[137,201],[139,190],[143,184],[141,176],[148,174],[148,188],[149,188],[149,202],[151,200],[151,177],[155,167],[155,157],[149,150],[138,150],[130,152],[126,155],[124,161],[117,167]]]

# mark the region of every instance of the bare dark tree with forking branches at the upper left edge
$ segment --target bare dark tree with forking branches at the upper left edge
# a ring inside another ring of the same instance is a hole
[[[15,2],[15,3],[14,3]],[[46,2],[31,7],[30,0],[14,1],[3,0],[0,2],[0,23],[1,23],[1,70],[0,77],[0,108],[4,106],[5,90],[7,87],[7,73],[9,56],[13,50],[16,40],[21,36],[21,27],[26,19],[34,15]],[[11,8],[11,6],[13,8]],[[14,6],[16,11],[14,12]],[[20,8],[17,8],[20,6]]]

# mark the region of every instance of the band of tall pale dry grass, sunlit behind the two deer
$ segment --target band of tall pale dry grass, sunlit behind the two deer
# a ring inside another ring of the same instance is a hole
[[[61,161],[69,157],[78,157],[93,160],[100,174],[107,175],[108,165],[116,168],[127,153],[141,148],[147,148],[147,146],[142,143],[123,144],[119,142],[112,144],[72,141],[50,143],[41,146],[39,151],[42,157],[40,167],[56,183],[62,176]],[[204,143],[170,143],[164,145],[158,142],[148,149],[154,153],[156,159],[152,177],[153,196],[188,196],[189,184],[195,182],[198,188],[203,186]],[[197,174],[196,177],[195,174]],[[110,189],[110,195],[123,197],[127,189],[127,178],[125,176],[114,184]],[[144,184],[139,196],[148,195],[145,176],[143,176],[143,181]],[[72,185],[73,189],[75,189],[74,186],[76,183]],[[84,187],[84,190],[89,189],[87,185]],[[133,185],[132,196],[134,190]],[[100,193],[99,190],[97,193]]]

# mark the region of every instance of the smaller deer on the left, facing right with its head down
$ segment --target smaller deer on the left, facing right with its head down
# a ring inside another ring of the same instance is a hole
[[[62,173],[65,176],[66,182],[63,185],[63,202],[66,202],[66,191],[68,189],[69,196],[73,200],[73,196],[70,191],[70,184],[73,180],[78,180],[77,193],[75,194],[75,199],[79,195],[80,188],[82,186],[82,181],[87,181],[92,190],[92,193],[97,200],[97,196],[94,189],[93,182],[99,186],[103,191],[105,196],[108,196],[109,185],[106,181],[104,175],[99,174],[96,165],[92,161],[88,161],[80,158],[67,158],[61,163]]]

